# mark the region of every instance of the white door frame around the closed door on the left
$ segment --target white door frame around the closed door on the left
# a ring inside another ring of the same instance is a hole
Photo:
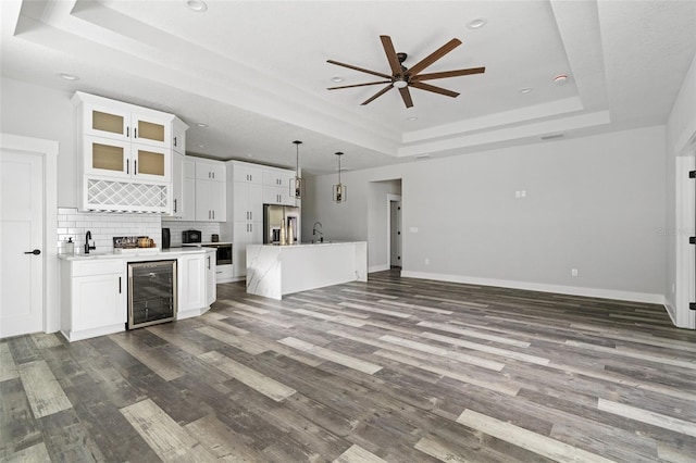
[[[59,142],[42,138],[0,133],[0,148],[20,154],[34,154],[44,161],[44,331],[60,328],[58,295],[58,152]]]

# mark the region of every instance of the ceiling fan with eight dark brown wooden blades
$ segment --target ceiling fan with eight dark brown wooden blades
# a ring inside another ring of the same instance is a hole
[[[356,85],[343,85],[340,87],[330,87],[327,90],[338,90],[340,88],[352,88],[352,87],[364,87],[369,85],[378,85],[378,84],[388,84],[382,90],[377,91],[372,97],[368,98],[363,101],[362,105],[370,103],[378,97],[382,97],[387,91],[391,90],[391,88],[398,88],[401,93],[401,99],[403,100],[403,104],[406,108],[413,107],[413,100],[411,99],[411,93],[409,91],[409,87],[418,88],[421,90],[432,91],[434,93],[444,95],[446,97],[457,98],[459,96],[458,92],[447,90],[446,88],[436,87],[434,85],[425,84],[423,80],[433,80],[437,78],[446,78],[446,77],[458,77],[465,76],[470,74],[483,74],[486,72],[485,67],[471,67],[468,70],[457,70],[457,71],[445,71],[439,73],[430,73],[430,74],[420,74],[421,71],[424,71],[427,66],[443,58],[445,54],[452,51],[455,48],[461,45],[461,40],[453,38],[420,62],[415,63],[413,66],[406,67],[402,63],[407,59],[406,53],[397,53],[394,49],[394,45],[391,43],[391,38],[389,36],[380,36],[382,39],[382,46],[384,47],[384,52],[387,55],[387,61],[389,62],[389,67],[391,68],[391,74],[378,73],[376,71],[365,70],[363,67],[353,66],[351,64],[340,63],[334,60],[326,60],[327,63],[336,64],[338,66],[348,67],[349,70],[360,71],[362,73],[372,74],[378,77],[384,78],[385,80],[378,82],[369,82],[365,84],[356,84]]]

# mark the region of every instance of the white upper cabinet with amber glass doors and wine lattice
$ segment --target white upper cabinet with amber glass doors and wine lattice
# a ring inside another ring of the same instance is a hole
[[[171,213],[173,114],[76,92],[82,209]]]

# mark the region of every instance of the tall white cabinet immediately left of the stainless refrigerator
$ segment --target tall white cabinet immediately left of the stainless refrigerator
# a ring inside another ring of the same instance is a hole
[[[247,274],[247,245],[263,241],[263,167],[239,161],[227,162],[232,201],[227,216],[233,242],[233,277]]]

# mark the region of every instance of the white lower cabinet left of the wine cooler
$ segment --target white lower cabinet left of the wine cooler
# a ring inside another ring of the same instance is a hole
[[[61,261],[61,331],[70,341],[123,331],[127,318],[122,260]]]

